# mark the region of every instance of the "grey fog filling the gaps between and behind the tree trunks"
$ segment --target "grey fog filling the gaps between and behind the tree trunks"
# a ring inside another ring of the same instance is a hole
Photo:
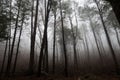
[[[24,1],[24,0],[23,0]],[[31,1],[31,0],[28,0]],[[31,1],[32,2],[32,1]],[[49,1],[47,1],[49,2]],[[13,0],[12,6],[14,7],[16,0]],[[38,7],[38,17],[37,17],[37,28],[36,28],[36,38],[35,38],[35,47],[34,47],[34,72],[38,70],[39,56],[42,49],[42,42],[44,40],[44,30],[46,23],[45,15],[45,4],[44,0],[39,1]],[[30,3],[32,4],[32,3]],[[67,53],[67,68],[69,75],[78,75],[84,73],[115,73],[115,63],[111,51],[111,46],[115,52],[118,64],[120,65],[120,25],[116,19],[114,11],[112,10],[111,5],[106,1],[98,1],[99,7],[102,10],[100,13],[98,6],[94,0],[63,0],[62,1],[62,16],[63,16],[63,25],[64,25],[64,38],[65,38],[65,47]],[[32,4],[33,5],[33,4]],[[58,1],[58,5],[60,5]],[[36,15],[36,1],[34,2],[33,10],[33,26],[35,23]],[[48,28],[47,28],[47,43],[48,47],[48,66],[47,66],[47,57],[45,55],[46,48],[43,50],[43,62],[42,62],[42,71],[46,71],[46,68],[49,68],[48,73],[52,73],[53,70],[53,58],[55,59],[55,73],[63,74],[65,67],[65,55],[64,55],[64,44],[63,44],[63,35],[62,35],[62,24],[61,24],[61,14],[60,8],[54,7],[53,9],[58,8],[56,11],[56,42],[55,42],[55,58],[53,57],[54,50],[54,14],[52,9],[49,13],[48,18]],[[17,10],[12,10],[13,13],[17,14]],[[17,17],[17,15],[14,17]],[[29,69],[30,63],[30,51],[31,51],[31,10],[28,11],[27,19],[23,24],[22,35],[20,38],[19,52],[17,58],[17,65],[15,73],[26,73]],[[46,12],[47,14],[47,12]],[[104,20],[104,24],[101,20]],[[19,17],[21,18],[21,16]],[[18,26],[22,22],[18,21]],[[7,48],[7,54],[4,64],[4,70],[6,71],[9,47],[12,47],[14,32],[15,32],[15,22],[11,22],[11,41],[10,46]],[[107,28],[108,37],[104,30],[104,27]],[[19,42],[20,27],[17,29],[16,40],[13,49],[13,57],[11,64],[14,64],[17,46]],[[76,35],[76,36],[75,36]],[[109,43],[109,39],[110,43]],[[75,40],[74,40],[75,39]],[[6,47],[6,41],[3,40],[0,42],[0,69],[2,67],[2,62],[4,59],[4,51]],[[46,44],[46,43],[45,43]],[[76,57],[74,52],[74,44],[76,50]],[[76,62],[75,62],[76,58]],[[77,66],[77,67],[76,67]],[[11,65],[11,70],[13,65]]]

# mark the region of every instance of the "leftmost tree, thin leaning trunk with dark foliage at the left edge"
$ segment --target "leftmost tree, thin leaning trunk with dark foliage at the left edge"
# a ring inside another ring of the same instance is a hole
[[[0,1],[0,42],[5,40],[5,50],[4,50],[4,55],[3,55],[3,61],[2,61],[2,67],[0,71],[0,76],[2,75],[4,71],[4,66],[5,66],[5,60],[6,60],[6,55],[7,55],[7,50],[8,50],[8,40],[10,39],[9,36],[9,24],[11,22],[11,17],[9,17],[9,11],[6,9],[9,8],[11,1]]]

